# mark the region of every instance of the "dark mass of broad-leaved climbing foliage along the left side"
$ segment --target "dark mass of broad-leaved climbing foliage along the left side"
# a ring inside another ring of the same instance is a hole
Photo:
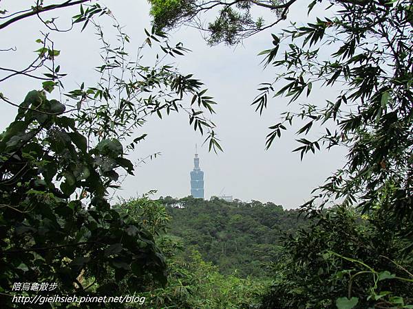
[[[87,274],[105,294],[118,291],[129,266],[135,275],[165,282],[151,235],[120,220],[107,202],[114,170],[131,172],[122,144],[103,139],[87,147],[64,110],[31,91],[0,135],[2,290],[15,282],[58,282],[60,293],[81,295],[87,286],[79,277]]]

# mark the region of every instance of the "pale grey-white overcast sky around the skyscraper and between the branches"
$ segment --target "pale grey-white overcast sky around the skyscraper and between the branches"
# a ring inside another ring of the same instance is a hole
[[[0,8],[14,12],[27,8],[27,0],[2,0]],[[45,1],[47,3],[57,1]],[[143,29],[149,29],[150,16],[147,1],[123,0],[101,1],[114,13],[124,31],[131,37],[128,47],[134,54],[145,40]],[[324,14],[324,8],[316,8],[315,14]],[[61,25],[70,23],[70,16],[78,8],[64,9],[46,16],[59,16]],[[191,53],[176,58],[174,65],[180,71],[193,73],[195,78],[204,82],[209,94],[218,105],[211,120],[217,125],[218,137],[224,152],[218,155],[209,152],[207,145],[202,145],[204,137],[193,132],[188,116],[184,113],[171,114],[169,117],[153,117],[136,134],[147,133],[147,139],[129,154],[129,159],[138,162],[141,158],[160,152],[156,159],[145,160],[138,165],[135,176],[128,176],[117,196],[129,198],[140,196],[150,190],[157,190],[158,196],[182,198],[190,194],[189,172],[193,168],[195,144],[198,144],[200,167],[204,171],[205,197],[231,195],[242,201],[271,201],[284,208],[295,208],[310,197],[310,192],[324,183],[324,180],[345,163],[346,152],[333,148],[316,155],[308,154],[300,161],[299,154],[292,152],[297,148],[294,135],[300,127],[294,126],[282,139],[275,140],[269,150],[265,150],[265,137],[268,126],[276,124],[280,113],[286,111],[287,100],[273,98],[263,115],[255,113],[251,102],[257,95],[260,82],[271,82],[275,68],[260,64],[257,56],[264,49],[271,48],[271,33],[279,33],[290,21],[304,23],[311,20],[307,9],[297,3],[290,11],[290,18],[276,25],[271,30],[246,39],[237,47],[218,45],[209,47],[198,30],[180,27],[170,32],[173,43],[182,42]],[[265,16],[264,18],[271,18]],[[105,25],[105,21],[102,21]],[[110,24],[105,25],[110,34]],[[33,51],[39,49],[36,38],[47,29],[36,19],[26,19],[0,30],[0,49],[16,47],[15,52],[1,52],[0,67],[22,68],[34,58]],[[61,50],[59,63],[68,73],[64,82],[67,89],[76,87],[83,81],[96,79],[94,67],[99,65],[99,45],[92,27],[84,32],[75,28],[70,32],[50,34],[55,48]],[[151,52],[149,50],[149,52]],[[151,55],[148,55],[151,56]],[[0,72],[0,76],[2,73]],[[27,78],[10,78],[0,83],[0,92],[13,102],[21,102],[25,93],[39,89],[39,81]],[[334,99],[339,89],[313,87],[313,92],[306,102],[319,104],[326,99]],[[16,108],[0,103],[0,130],[8,126],[17,113]],[[321,132],[313,133],[313,137]]]

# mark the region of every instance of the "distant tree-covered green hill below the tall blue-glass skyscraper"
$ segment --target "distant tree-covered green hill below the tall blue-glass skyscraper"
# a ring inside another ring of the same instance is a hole
[[[203,260],[213,262],[224,275],[266,276],[282,253],[280,238],[305,225],[298,211],[274,203],[191,197],[160,202],[172,217],[169,234],[180,238],[184,247],[196,246]]]

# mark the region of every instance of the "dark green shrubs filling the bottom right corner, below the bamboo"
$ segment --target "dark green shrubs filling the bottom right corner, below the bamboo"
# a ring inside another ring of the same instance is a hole
[[[309,229],[284,239],[262,308],[412,308],[406,244],[388,222],[351,208],[324,211]]]

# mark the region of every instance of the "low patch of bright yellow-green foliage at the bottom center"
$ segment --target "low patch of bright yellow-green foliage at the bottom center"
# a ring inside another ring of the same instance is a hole
[[[262,278],[222,275],[195,250],[167,264],[167,287],[147,293],[149,308],[258,308],[269,285]]]

